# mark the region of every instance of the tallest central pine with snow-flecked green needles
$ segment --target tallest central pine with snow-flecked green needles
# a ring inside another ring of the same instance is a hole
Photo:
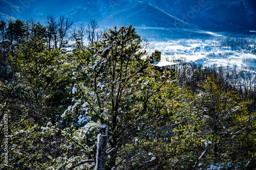
[[[140,155],[135,139],[172,120],[173,73],[152,69],[151,59],[142,59],[140,42],[131,26],[115,27],[90,50],[76,50],[72,58],[73,90],[77,92],[72,110],[70,107],[61,116],[83,117],[84,122],[77,126],[78,136],[84,136],[78,141],[84,144],[95,146],[97,133],[108,131],[109,148],[115,149],[107,159],[109,167],[124,167],[126,161],[131,162],[130,168],[136,166]],[[84,124],[92,125],[93,133],[82,130]]]

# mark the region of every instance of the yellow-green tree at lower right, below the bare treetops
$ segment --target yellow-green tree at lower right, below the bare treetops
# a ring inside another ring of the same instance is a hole
[[[247,103],[239,103],[239,96],[232,91],[222,91],[216,81],[211,76],[202,83],[202,91],[186,94],[189,121],[198,126],[204,142],[194,167],[206,167],[211,162],[216,165],[222,162],[223,167],[230,163],[232,167],[239,167],[252,158],[245,158],[244,153],[255,152],[255,147],[241,148],[246,145],[242,144],[243,136],[250,135],[248,131],[255,128],[255,114],[249,114]],[[253,142],[254,139],[247,140],[251,146]]]

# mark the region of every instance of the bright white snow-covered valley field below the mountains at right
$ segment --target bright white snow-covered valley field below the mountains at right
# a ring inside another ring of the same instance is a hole
[[[226,37],[218,36],[216,38],[202,39],[179,39],[168,40],[167,42],[152,41],[149,42],[150,51],[158,50],[161,52],[161,60],[177,61],[185,59],[186,61],[195,61],[198,64],[223,67],[233,67],[241,65],[252,66],[256,68],[256,55],[250,53],[250,50],[238,47],[232,50],[230,46],[223,46],[222,42]],[[255,42],[255,38],[253,39]],[[255,49],[255,44],[246,44]]]

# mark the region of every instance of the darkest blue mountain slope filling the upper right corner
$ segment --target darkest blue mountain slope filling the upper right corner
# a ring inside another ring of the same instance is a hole
[[[255,0],[151,0],[170,15],[212,31],[255,29]]]

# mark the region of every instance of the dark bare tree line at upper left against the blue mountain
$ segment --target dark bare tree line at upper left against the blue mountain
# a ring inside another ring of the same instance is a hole
[[[27,21],[9,20],[0,23],[1,46],[13,50],[17,44],[24,44],[33,37],[44,38],[49,50],[63,50],[67,47],[67,40],[75,40],[75,45],[82,45],[84,40],[90,43],[101,38],[104,29],[99,29],[95,19],[89,19],[87,26],[73,26],[69,17],[48,15],[46,24],[36,22],[34,19]]]

